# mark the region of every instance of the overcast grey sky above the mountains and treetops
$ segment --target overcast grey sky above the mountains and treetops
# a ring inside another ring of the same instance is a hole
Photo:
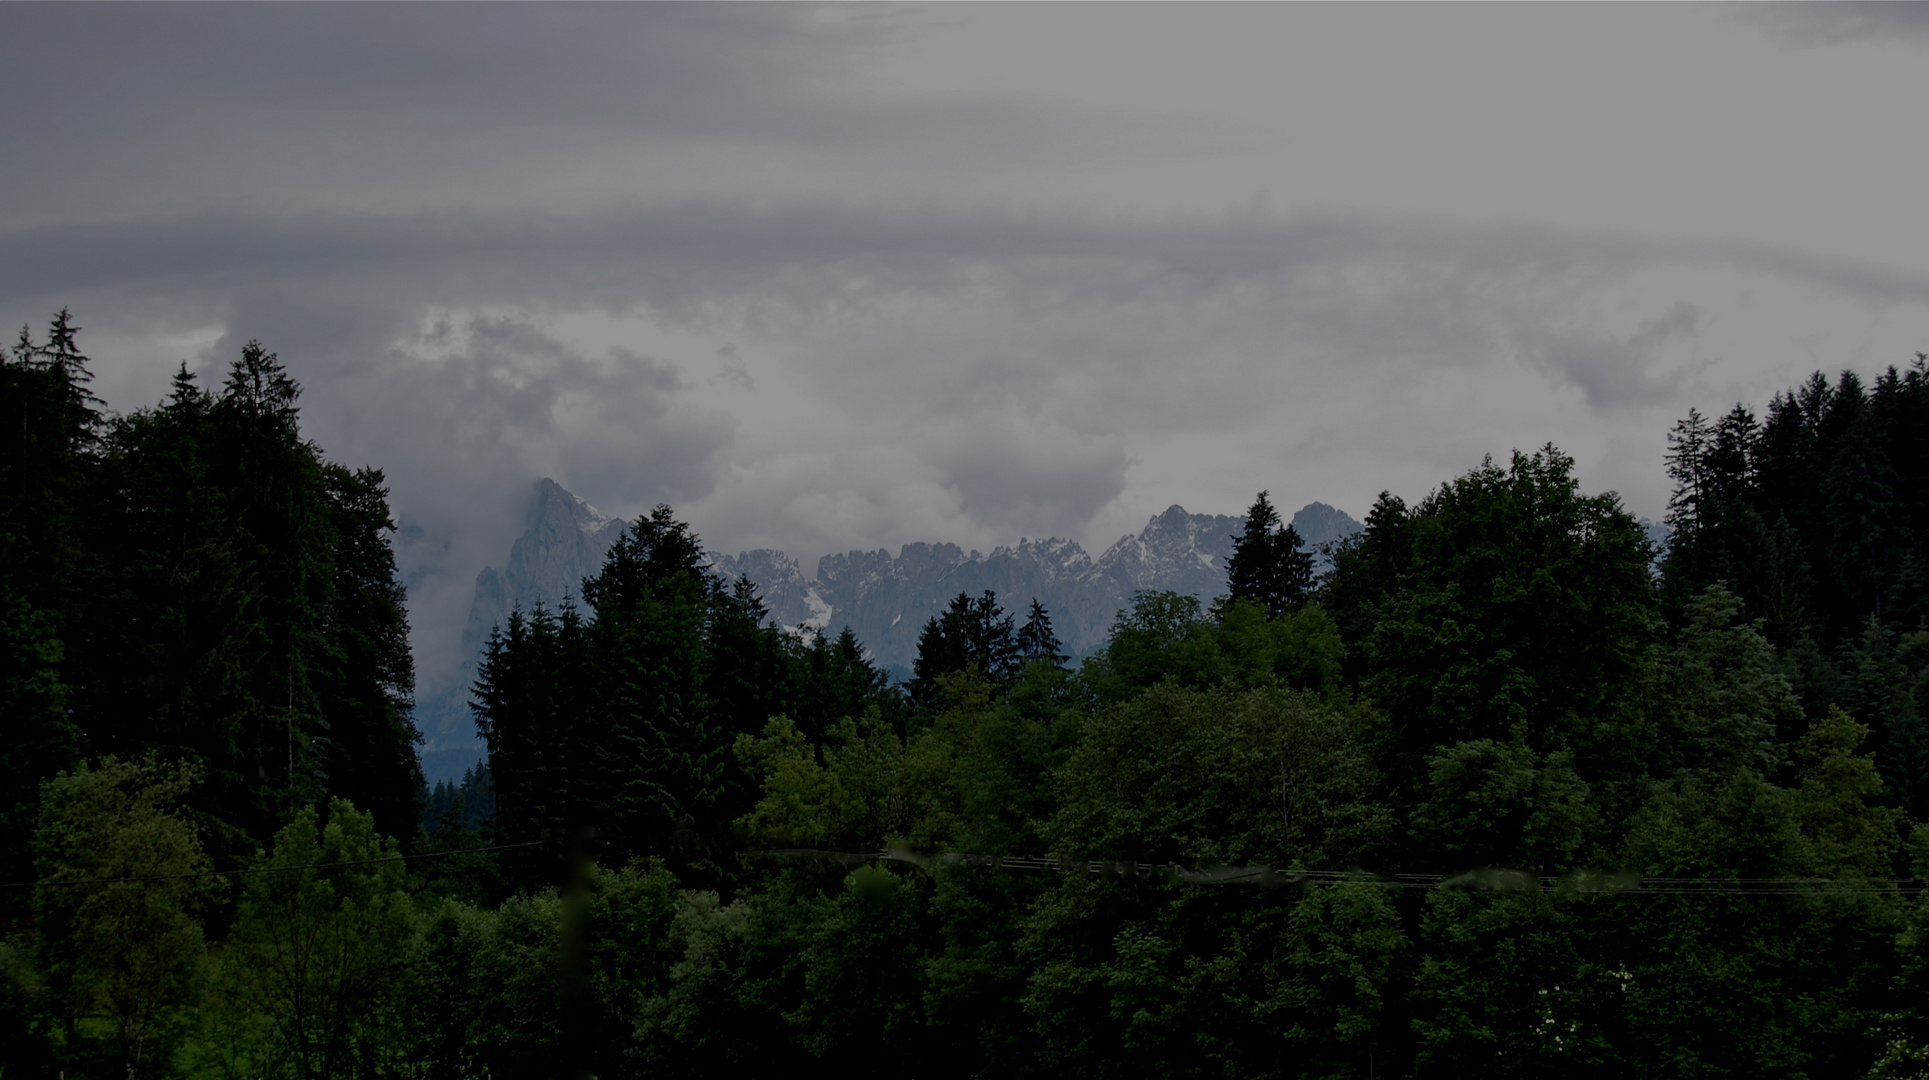
[[[0,318],[258,338],[451,665],[527,486],[718,550],[1354,513],[1929,349],[1929,10],[0,4]]]

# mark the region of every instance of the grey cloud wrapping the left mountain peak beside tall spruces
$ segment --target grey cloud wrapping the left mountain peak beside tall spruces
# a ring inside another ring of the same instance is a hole
[[[455,665],[475,573],[523,528],[532,480],[621,505],[698,500],[735,422],[693,405],[666,361],[592,355],[527,318],[424,314],[359,289],[255,293],[197,366],[218,382],[243,339],[262,339],[305,388],[305,434],[330,457],[384,469],[409,526],[397,563],[434,679]]]

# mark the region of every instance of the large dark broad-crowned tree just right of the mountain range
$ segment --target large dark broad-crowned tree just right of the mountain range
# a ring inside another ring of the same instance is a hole
[[[1553,447],[1516,451],[1412,511],[1383,500],[1339,554],[1331,594],[1341,625],[1366,631],[1362,687],[1391,717],[1395,785],[1422,789],[1433,756],[1470,741],[1568,752],[1588,783],[1638,775],[1651,552],[1572,467]],[[1391,580],[1354,580],[1389,567]]]

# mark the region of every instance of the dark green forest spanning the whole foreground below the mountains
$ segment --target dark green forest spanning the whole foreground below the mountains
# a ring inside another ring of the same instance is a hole
[[[110,407],[60,312],[0,1076],[1929,1074],[1929,361],[1653,436],[1663,544],[1555,446],[1325,552],[1262,492],[1219,600],[961,594],[907,681],[658,505],[428,787],[382,472],[260,343]]]

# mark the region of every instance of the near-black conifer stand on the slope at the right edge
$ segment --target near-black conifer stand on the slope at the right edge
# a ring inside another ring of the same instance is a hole
[[[1690,413],[1671,436],[1663,577],[1676,621],[1709,584],[1732,592],[1807,712],[1840,704],[1875,729],[1890,798],[1912,814],[1929,812],[1921,662],[1906,644],[1929,629],[1925,430],[1921,355],[1873,386],[1817,372],[1775,395],[1759,426],[1740,405],[1713,430]]]

